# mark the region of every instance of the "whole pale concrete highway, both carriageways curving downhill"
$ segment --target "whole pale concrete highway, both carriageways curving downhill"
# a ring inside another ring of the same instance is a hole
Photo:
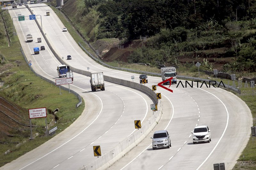
[[[139,82],[139,75],[111,70],[93,61],[86,55],[50,7],[44,4],[29,5],[36,15],[42,16],[43,30],[59,56],[72,56],[67,65],[81,70],[103,71],[105,76]],[[24,6],[23,6],[24,7]],[[51,15],[45,16],[50,10]],[[26,8],[9,10],[12,17],[18,14],[31,15]],[[39,22],[40,23],[40,22]],[[31,33],[34,40],[42,37],[32,20],[14,21],[22,48],[32,67],[49,79],[57,78],[58,60],[48,51],[33,55],[37,43],[25,43],[25,35]],[[41,46],[41,44],[40,44]],[[106,91],[90,92],[89,78],[75,74],[72,90],[85,100],[86,109],[68,129],[45,144],[28,152],[0,169],[79,169],[99,159],[93,156],[92,145],[101,145],[107,153],[118,142],[134,132],[133,120],[150,119],[152,100],[144,93],[106,82]],[[148,86],[157,85],[161,78],[148,76]],[[184,83],[184,81],[182,81]],[[162,115],[156,127],[123,158],[108,169],[213,169],[214,163],[225,163],[232,169],[250,136],[252,115],[246,104],[236,95],[221,88],[202,88],[171,85],[172,92],[157,86],[162,99],[159,106]],[[96,104],[97,103],[97,104]],[[99,107],[100,106],[100,107]],[[158,106],[158,108],[159,108]],[[87,110],[88,109],[88,110]],[[196,125],[207,125],[211,129],[210,143],[193,144],[191,131]],[[152,134],[167,129],[172,147],[152,150]],[[92,143],[93,142],[93,143]],[[47,163],[46,163],[47,162]],[[108,165],[100,169],[106,169]],[[93,169],[94,167],[91,167]]]

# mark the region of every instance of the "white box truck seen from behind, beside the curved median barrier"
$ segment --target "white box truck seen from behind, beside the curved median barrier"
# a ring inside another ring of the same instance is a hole
[[[104,91],[105,86],[104,86],[103,72],[95,72],[90,74],[91,74],[90,83],[91,83],[92,92],[95,92],[97,89]]]

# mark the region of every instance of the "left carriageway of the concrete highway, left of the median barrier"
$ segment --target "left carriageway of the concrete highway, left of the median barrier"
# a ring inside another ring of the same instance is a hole
[[[29,12],[18,8],[10,10],[10,14],[12,17],[18,14],[28,16]],[[32,61],[32,68],[54,81],[57,77],[55,68],[60,63],[52,53],[45,50],[33,55],[35,46],[44,45],[49,49],[44,40],[42,43],[35,42],[37,37],[41,37],[35,22],[14,21],[14,25],[22,48],[28,60]],[[24,43],[27,33],[33,35],[33,42]],[[134,120],[143,122],[152,116],[148,114],[152,100],[137,90],[106,82],[105,91],[92,93],[89,77],[76,73],[70,86],[86,102],[83,114],[62,133],[1,169],[78,169],[96,159],[93,157],[93,145],[101,145],[101,153],[104,154],[133,132]]]

